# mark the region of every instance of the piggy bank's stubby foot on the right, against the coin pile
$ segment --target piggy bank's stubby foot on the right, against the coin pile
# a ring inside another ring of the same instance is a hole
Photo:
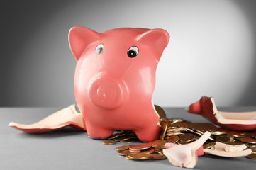
[[[161,128],[158,125],[152,125],[150,127],[134,130],[134,132],[141,141],[152,142],[154,140],[159,140]]]

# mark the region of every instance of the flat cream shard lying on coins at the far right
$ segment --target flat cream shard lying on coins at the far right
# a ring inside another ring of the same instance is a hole
[[[246,149],[243,145],[228,145],[221,142],[216,142],[216,145],[211,149],[204,149],[204,153],[213,154],[219,157],[245,157],[252,153],[252,149]]]

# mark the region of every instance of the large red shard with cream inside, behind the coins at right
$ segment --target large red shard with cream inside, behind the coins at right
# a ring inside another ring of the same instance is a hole
[[[221,112],[218,111],[211,97],[203,96],[196,103],[192,103],[187,111],[208,118],[213,123],[221,125],[223,128],[232,130],[255,130],[256,111],[253,112]]]

